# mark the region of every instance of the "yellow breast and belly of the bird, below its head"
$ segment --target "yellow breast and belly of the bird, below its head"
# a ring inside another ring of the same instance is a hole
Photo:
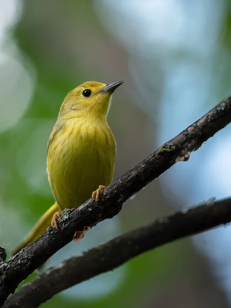
[[[54,132],[47,171],[61,208],[78,207],[99,185],[111,183],[114,159],[115,140],[107,123],[71,123]]]

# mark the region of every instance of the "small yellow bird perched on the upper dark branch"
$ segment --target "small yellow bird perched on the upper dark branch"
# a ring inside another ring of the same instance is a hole
[[[97,202],[111,183],[116,144],[106,118],[112,93],[123,82],[86,82],[67,94],[47,148],[47,174],[56,202],[13,254],[50,225],[58,229],[56,220],[64,208],[79,207],[90,197]]]

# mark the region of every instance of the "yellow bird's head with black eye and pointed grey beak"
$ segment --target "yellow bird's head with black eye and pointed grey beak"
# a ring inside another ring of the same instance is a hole
[[[70,91],[60,109],[60,116],[106,117],[110,107],[111,95],[124,81],[119,80],[108,85],[89,81]]]

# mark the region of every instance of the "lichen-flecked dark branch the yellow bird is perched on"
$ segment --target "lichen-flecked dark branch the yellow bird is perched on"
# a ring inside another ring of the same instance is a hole
[[[0,305],[10,293],[14,292],[18,283],[69,243],[76,230],[82,230],[84,226],[94,226],[99,220],[117,215],[129,197],[158,178],[179,160],[188,159],[191,151],[198,149],[203,142],[229,122],[231,122],[231,96],[106,187],[98,204],[88,200],[71,214],[66,212],[59,223],[61,232],[48,228],[47,232],[27,248],[8,262],[2,263]]]

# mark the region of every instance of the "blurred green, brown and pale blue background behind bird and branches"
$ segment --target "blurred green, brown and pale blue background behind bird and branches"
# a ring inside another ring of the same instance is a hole
[[[46,147],[65,95],[85,81],[119,79],[108,115],[114,179],[231,94],[230,1],[0,0],[0,244],[8,252],[53,204]],[[48,265],[230,196],[230,137],[229,125]],[[145,253],[42,306],[231,307],[231,228]]]

